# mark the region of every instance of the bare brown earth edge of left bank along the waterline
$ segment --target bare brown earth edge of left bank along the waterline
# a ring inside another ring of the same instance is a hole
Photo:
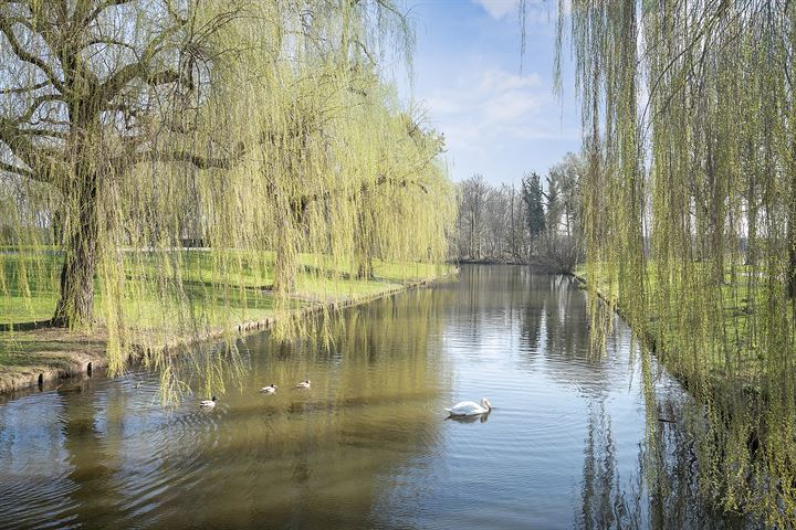
[[[369,304],[383,298],[389,298],[400,293],[426,287],[428,285],[457,277],[459,273],[460,268],[455,266],[449,273],[444,273],[439,276],[406,280],[397,287],[395,286],[396,284],[390,284],[389,288],[367,295],[354,295],[346,298],[331,300],[313,300],[313,305],[297,309],[296,312],[300,318],[305,318],[324,310],[336,311],[348,307]],[[198,336],[180,336],[165,343],[158,344],[155,348],[166,352],[167,354],[169,354],[169,352],[172,352],[171,354],[177,354],[180,349],[192,343],[217,340],[230,332],[238,333],[238,337],[242,338],[258,332],[269,331],[275,324],[276,318],[274,317],[266,317],[258,320],[244,320],[228,327],[214,327]],[[54,328],[40,328],[27,331],[27,333],[42,335],[44,338],[46,338],[48,333],[63,332],[63,330],[56,330]],[[51,361],[57,361],[61,365],[44,367],[30,364],[14,367],[13,370],[0,374],[0,395],[2,395],[3,399],[15,399],[29,393],[42,392],[67,380],[86,377],[91,378],[96,371],[103,370],[107,367],[105,339],[101,335],[70,332],[70,336],[75,340],[75,349],[61,350],[48,358]],[[130,354],[132,363],[135,365],[140,362],[144,354],[148,353],[147,350],[151,350],[151,347],[144,348],[139,344],[133,344],[132,349],[134,352],[138,353],[137,356]]]

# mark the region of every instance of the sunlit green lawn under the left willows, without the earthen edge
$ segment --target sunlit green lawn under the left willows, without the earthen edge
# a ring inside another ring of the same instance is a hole
[[[223,259],[209,252],[185,251],[172,263],[163,256],[133,254],[125,278],[125,315],[139,328],[160,328],[164,322],[191,316],[209,325],[256,320],[273,316],[273,254],[229,253]],[[224,262],[233,262],[226,274]],[[422,263],[375,262],[374,280],[348,279],[348,271],[325,263],[323,256],[302,255],[305,269],[296,278],[296,307],[307,300],[334,301],[369,296],[407,282],[430,279],[450,272],[449,266]],[[170,267],[163,282],[159,267]],[[49,319],[55,308],[61,256],[54,252],[0,254],[4,274],[0,280],[0,325]],[[158,282],[160,278],[160,282]],[[96,282],[95,314],[105,310]]]

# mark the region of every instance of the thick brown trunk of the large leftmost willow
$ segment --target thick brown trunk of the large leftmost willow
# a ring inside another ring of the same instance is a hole
[[[80,171],[78,171],[80,173]],[[98,258],[97,174],[84,173],[72,190],[72,223],[64,242],[61,299],[54,326],[88,326],[94,320],[94,272]]]

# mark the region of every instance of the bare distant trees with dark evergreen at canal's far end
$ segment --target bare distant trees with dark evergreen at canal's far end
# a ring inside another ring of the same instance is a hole
[[[519,187],[492,186],[476,173],[459,183],[457,258],[533,263],[552,272],[570,272],[583,252],[584,168],[583,159],[570,152],[544,181],[528,172]]]

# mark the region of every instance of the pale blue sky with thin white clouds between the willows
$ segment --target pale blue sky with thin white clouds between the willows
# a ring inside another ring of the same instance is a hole
[[[413,97],[446,135],[455,181],[478,172],[492,183],[519,183],[526,171],[544,174],[579,150],[568,49],[563,94],[553,93],[557,1],[528,2],[522,73],[516,1],[408,0],[417,32]]]

